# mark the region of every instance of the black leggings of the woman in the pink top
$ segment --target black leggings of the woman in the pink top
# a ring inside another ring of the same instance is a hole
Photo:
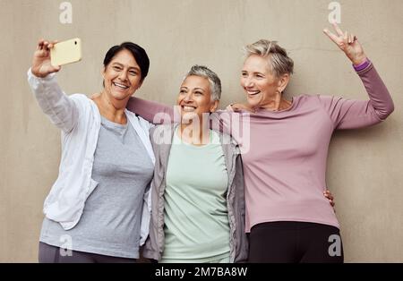
[[[249,262],[342,263],[339,228],[304,222],[270,222],[253,226]]]

